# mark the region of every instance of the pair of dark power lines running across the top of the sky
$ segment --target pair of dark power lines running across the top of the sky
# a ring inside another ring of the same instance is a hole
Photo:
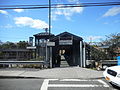
[[[0,9],[43,9],[43,8],[71,8],[71,7],[94,7],[94,6],[114,6],[120,2],[107,3],[82,3],[82,4],[51,4],[49,5],[0,5]]]

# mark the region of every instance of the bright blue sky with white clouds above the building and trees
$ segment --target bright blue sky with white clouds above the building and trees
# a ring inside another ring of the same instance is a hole
[[[119,0],[51,0],[52,4],[99,3]],[[0,0],[0,5],[41,5],[48,0]],[[51,30],[55,35],[70,32],[89,42],[99,42],[105,35],[120,33],[120,6],[74,7],[52,9]],[[48,27],[48,9],[0,10],[0,40],[28,41],[30,36]]]

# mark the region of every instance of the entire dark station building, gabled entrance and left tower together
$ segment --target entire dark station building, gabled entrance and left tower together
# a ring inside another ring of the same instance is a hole
[[[50,67],[86,66],[85,44],[81,37],[69,32],[56,36],[44,32],[34,36],[36,57],[48,62]]]

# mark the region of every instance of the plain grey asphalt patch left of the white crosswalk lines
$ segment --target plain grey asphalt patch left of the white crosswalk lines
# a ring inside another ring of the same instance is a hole
[[[40,90],[42,79],[0,79],[0,90]]]

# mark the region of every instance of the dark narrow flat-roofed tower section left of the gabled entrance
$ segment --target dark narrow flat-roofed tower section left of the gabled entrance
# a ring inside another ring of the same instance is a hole
[[[49,38],[54,37],[54,34],[49,34],[48,32],[38,33],[34,35],[35,46],[36,46],[36,58],[40,58],[48,62],[50,58],[50,47],[47,46]]]

